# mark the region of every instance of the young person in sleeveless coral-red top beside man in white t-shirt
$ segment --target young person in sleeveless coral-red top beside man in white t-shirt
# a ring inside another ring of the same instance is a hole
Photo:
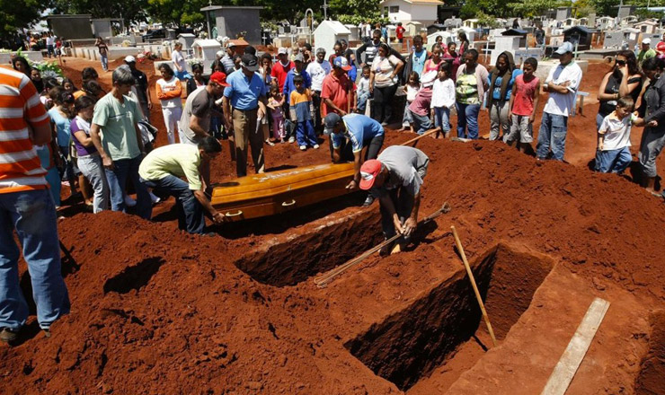
[[[522,65],[523,73],[515,78],[515,85],[510,93],[510,133],[503,136],[503,142],[507,145],[517,142],[516,147],[522,153],[526,153],[534,141],[533,123],[540,93],[540,80],[534,75],[537,68],[536,58],[528,57]]]

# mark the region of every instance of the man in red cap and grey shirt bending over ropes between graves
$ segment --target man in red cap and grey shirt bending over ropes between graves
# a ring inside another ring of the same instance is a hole
[[[393,145],[360,167],[360,189],[379,199],[381,227],[387,239],[403,235],[392,253],[399,252],[418,226],[422,180],[430,158],[410,146]],[[382,250],[385,254],[390,246]]]

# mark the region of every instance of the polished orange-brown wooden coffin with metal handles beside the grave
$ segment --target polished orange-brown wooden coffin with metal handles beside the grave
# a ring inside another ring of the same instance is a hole
[[[353,163],[325,163],[271,171],[215,184],[211,203],[226,219],[275,215],[349,192]]]

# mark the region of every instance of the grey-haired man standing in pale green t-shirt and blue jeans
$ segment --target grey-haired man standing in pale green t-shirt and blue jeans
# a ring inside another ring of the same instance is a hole
[[[94,106],[90,136],[102,156],[111,191],[111,210],[125,211],[123,191],[129,179],[137,191],[137,215],[150,219],[150,194],[138,180],[138,165],[145,154],[137,125],[141,113],[137,102],[127,96],[135,82],[134,75],[129,68],[120,66],[113,71],[111,80],[111,92]]]

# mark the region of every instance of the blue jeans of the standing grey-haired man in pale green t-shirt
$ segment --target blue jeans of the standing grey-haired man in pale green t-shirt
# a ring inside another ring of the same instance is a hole
[[[105,169],[106,180],[109,181],[112,211],[125,212],[124,192],[129,178],[134,185],[134,189],[137,190],[137,215],[144,219],[150,219],[152,200],[150,200],[146,186],[138,180],[138,165],[141,164],[141,159],[141,155],[138,155],[132,159],[113,161],[113,170]]]

